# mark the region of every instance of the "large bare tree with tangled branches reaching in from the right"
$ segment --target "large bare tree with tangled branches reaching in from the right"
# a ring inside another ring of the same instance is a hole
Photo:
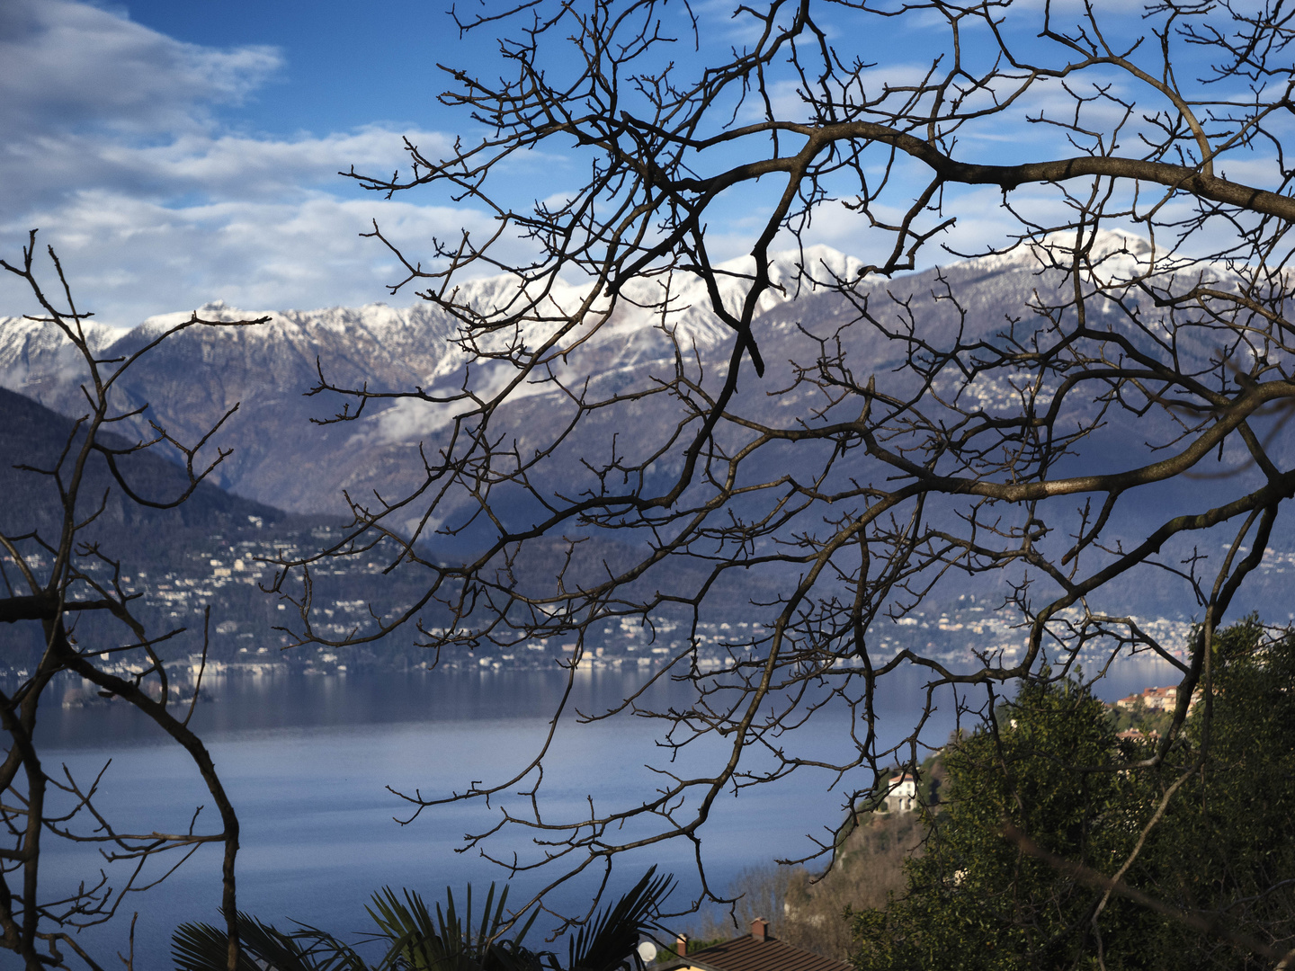
[[[659,719],[670,753],[721,739],[724,755],[704,772],[662,765],[657,791],[575,818],[506,803],[470,843],[530,831],[534,856],[504,862],[556,864],[561,880],[695,842],[725,788],[811,768],[861,809],[886,765],[917,769],[938,693],[992,698],[1045,663],[1068,673],[1081,650],[1178,669],[1163,759],[1295,492],[1295,13],[773,0],[721,23],[658,0],[471,9],[458,26],[501,38],[500,74],[447,69],[442,101],[479,137],[445,157],[411,144],[394,176],[348,173],[493,215],[487,238],[417,256],[373,230],[408,271],[392,293],[422,287],[453,315],[469,364],[453,385],[396,391],[320,374],[316,392],[344,401],[337,421],[395,401],[440,429],[418,489],[352,496],[354,530],[329,555],[400,542],[426,593],[381,633],[417,624],[440,655],[549,638],[574,672],[607,627],[671,643],[673,625],[685,636],[655,677],[690,682],[693,703],[657,711],[640,693],[620,709]],[[517,205],[517,167],[539,153],[584,175]],[[755,228],[745,263],[721,263],[733,233],[716,242],[715,227],[734,207]],[[815,233],[847,216],[866,227],[870,265],[815,259]],[[958,252],[958,220],[985,216],[1006,229]],[[782,247],[800,254],[791,276],[772,269]],[[903,276],[949,255],[979,259]],[[1022,299],[987,325],[963,294],[1008,263]],[[512,282],[461,286],[486,272]],[[728,330],[719,352],[677,326],[695,312],[689,287]],[[815,300],[833,313],[798,316]],[[631,311],[655,313],[671,350],[610,374],[589,348]],[[429,550],[447,535],[480,552],[444,563]],[[1138,584],[1198,621],[1188,643],[1125,610]],[[892,621],[951,589],[995,590],[1019,654],[987,647],[969,665],[887,646]],[[294,633],[329,643],[308,594]],[[707,668],[699,625],[738,602],[754,625]],[[882,741],[877,699],[913,665],[926,712]],[[842,708],[846,757],[815,731]],[[513,778],[409,803],[534,795],[548,744]]]

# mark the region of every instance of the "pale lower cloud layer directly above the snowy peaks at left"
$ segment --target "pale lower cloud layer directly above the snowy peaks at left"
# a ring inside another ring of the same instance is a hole
[[[471,211],[326,193],[284,202],[168,207],[88,190],[35,214],[40,242],[58,250],[79,302],[114,326],[133,326],[153,313],[193,309],[214,299],[260,309],[387,299],[386,285],[403,278],[404,271],[381,243],[360,238],[376,216],[383,233],[411,254],[433,236],[455,238],[461,228],[488,229]],[[17,250],[23,228],[0,225],[0,237]],[[12,263],[17,254],[4,255]],[[413,289],[395,299],[416,300]],[[0,280],[0,307],[34,312],[14,280]]]

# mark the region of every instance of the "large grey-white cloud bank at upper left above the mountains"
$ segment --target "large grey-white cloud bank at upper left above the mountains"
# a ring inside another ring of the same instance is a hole
[[[488,228],[474,210],[354,198],[338,175],[392,171],[404,136],[439,154],[449,139],[436,132],[256,137],[221,126],[212,106],[237,105],[282,69],[272,48],[218,50],[88,4],[5,0],[0,63],[0,256],[14,262],[40,228],[104,322],[218,298],[370,303],[404,276],[359,238],[374,218],[416,259],[433,236]],[[34,311],[18,282],[0,274],[0,315]]]

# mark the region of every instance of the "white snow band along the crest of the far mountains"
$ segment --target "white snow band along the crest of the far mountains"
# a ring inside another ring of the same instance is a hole
[[[768,267],[772,286],[760,295],[755,316],[759,318],[774,307],[835,281],[853,280],[860,265],[855,258],[828,246],[773,254]],[[723,307],[729,313],[739,315],[754,277],[752,259],[738,258],[719,264],[716,269],[720,281],[717,296]],[[580,353],[598,352],[603,370],[670,360],[676,344],[684,353],[690,353],[734,339],[732,329],[714,312],[712,295],[706,284],[694,274],[676,271],[672,274],[637,277],[616,295],[614,306],[606,295],[591,300],[592,287],[589,282],[549,281],[539,302],[539,315],[528,315],[532,318],[523,315],[515,326],[505,325],[492,333],[477,331],[473,337],[479,347],[495,353],[509,347],[535,352],[546,346],[550,346],[554,359],[578,348]],[[499,276],[462,284],[456,299],[486,320],[501,320],[519,311],[527,296],[534,299],[537,295],[523,294],[518,277]],[[572,322],[571,315],[581,304],[589,312]],[[268,317],[268,322],[256,328],[184,328],[194,313],[206,321]],[[540,318],[535,320],[536,316]],[[118,340],[122,348],[136,350],[176,328],[183,329],[168,339],[170,346],[183,347],[189,342],[211,348],[238,346],[243,353],[268,355],[271,359],[287,356],[298,361],[341,355],[355,364],[356,373],[363,372],[366,359],[390,357],[403,365],[399,370],[414,383],[458,382],[469,361],[469,355],[460,347],[465,337],[462,322],[430,303],[251,311],[212,300],[196,312],[149,317],[124,334],[106,326],[87,325],[96,351],[106,350]],[[329,353],[322,353],[325,351]],[[211,361],[220,359],[220,353],[205,351],[198,357]],[[38,374],[44,379],[54,374],[60,375],[60,381],[71,379],[69,368],[78,372],[79,363],[56,328],[17,317],[0,318],[0,383],[22,391]],[[487,370],[491,373],[484,373]],[[479,392],[497,391],[510,381],[509,368],[500,373],[496,370],[493,366],[483,369],[480,378],[484,383]],[[552,390],[545,385],[539,387]],[[530,394],[527,388],[519,388],[519,392]]]

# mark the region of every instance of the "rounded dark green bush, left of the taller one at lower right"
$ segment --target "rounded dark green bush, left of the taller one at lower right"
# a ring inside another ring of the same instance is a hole
[[[1094,893],[1002,834],[1010,822],[1068,860],[1112,860],[1128,842],[1123,779],[1074,766],[1107,763],[1114,731],[1071,682],[1027,685],[998,719],[997,735],[976,731],[947,751],[945,808],[908,864],[908,893],[856,918],[860,967],[1054,967],[1084,946]]]

